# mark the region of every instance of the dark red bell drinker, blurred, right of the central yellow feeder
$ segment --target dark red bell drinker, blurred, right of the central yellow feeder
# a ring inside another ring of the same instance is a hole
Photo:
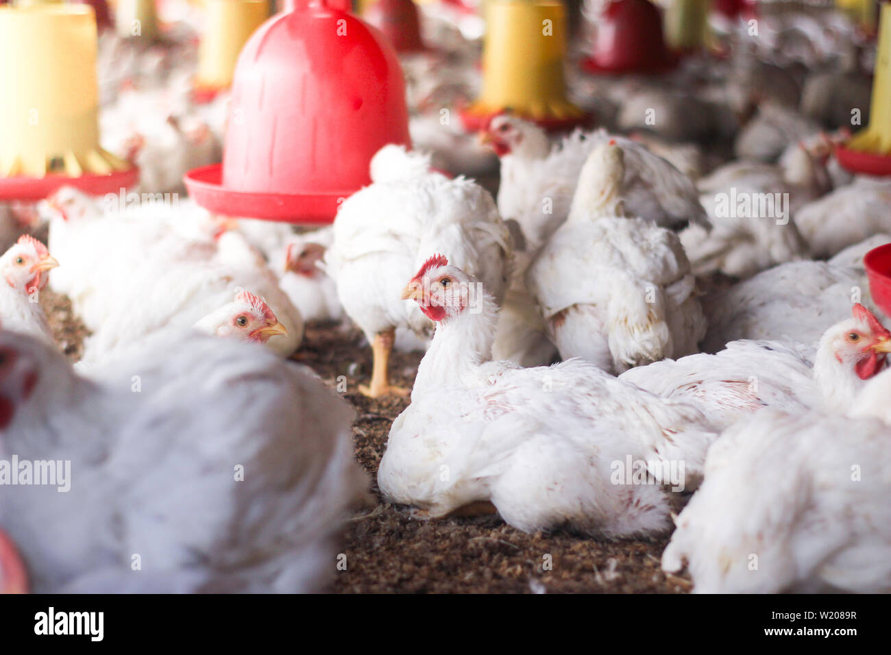
[[[674,68],[662,16],[649,0],[613,0],[597,20],[597,36],[582,68],[598,75],[657,75]]]

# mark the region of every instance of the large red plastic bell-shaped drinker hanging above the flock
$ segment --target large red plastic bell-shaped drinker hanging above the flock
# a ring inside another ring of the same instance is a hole
[[[241,51],[223,163],[185,176],[217,214],[331,223],[371,183],[387,143],[410,145],[405,81],[377,29],[325,0],[299,0]]]

